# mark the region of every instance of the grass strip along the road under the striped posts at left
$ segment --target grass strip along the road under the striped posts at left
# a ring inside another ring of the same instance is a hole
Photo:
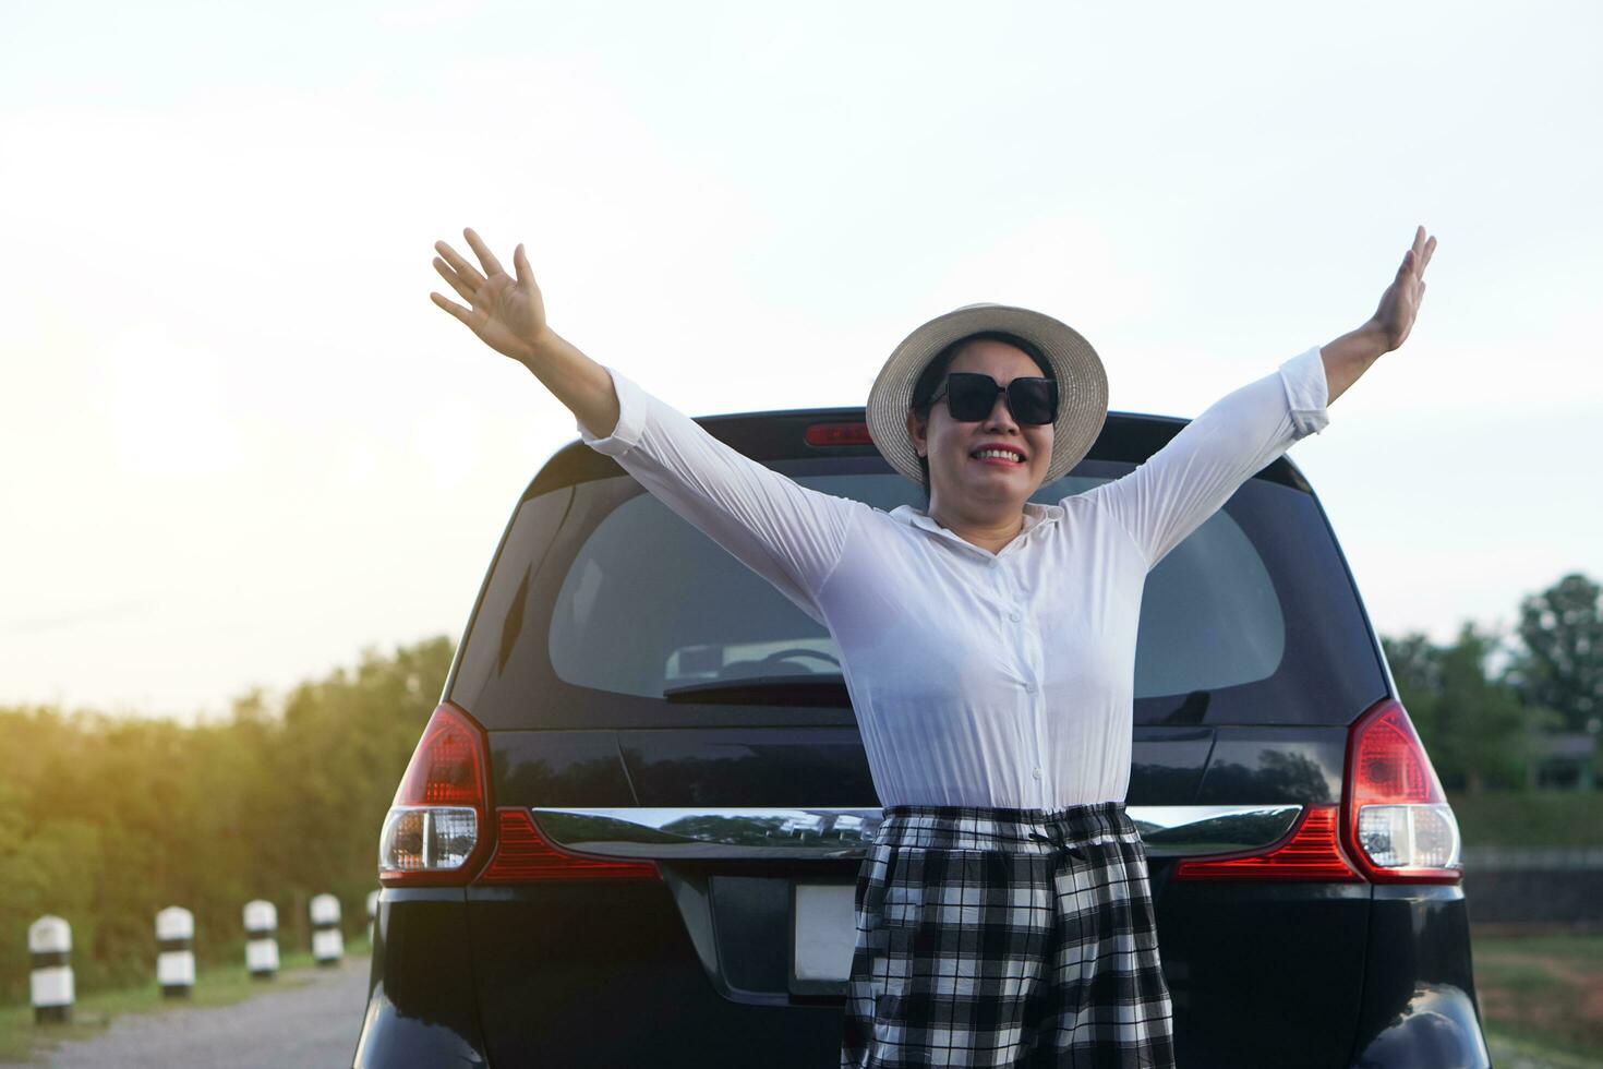
[[[345,944],[346,957],[370,952],[365,936]],[[63,1040],[95,1039],[115,1019],[128,1013],[160,1013],[180,1006],[231,1006],[253,995],[290,990],[311,982],[317,963],[309,950],[281,950],[279,974],[273,981],[250,976],[245,963],[216,965],[196,970],[196,986],[189,998],[165,998],[155,978],[139,987],[98,990],[79,995],[72,1005],[71,1024],[34,1024],[34,1008],[0,1006],[0,1063],[29,1063],[50,1053]]]

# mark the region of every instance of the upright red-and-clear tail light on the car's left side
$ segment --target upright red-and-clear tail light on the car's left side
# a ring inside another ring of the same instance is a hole
[[[378,835],[385,886],[466,883],[486,853],[484,731],[441,702],[423,728]]]

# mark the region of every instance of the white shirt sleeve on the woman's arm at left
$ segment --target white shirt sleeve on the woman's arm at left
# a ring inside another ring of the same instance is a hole
[[[614,369],[608,373],[617,426],[596,438],[575,423],[583,442],[822,623],[818,590],[840,559],[853,514],[867,505],[800,486]]]

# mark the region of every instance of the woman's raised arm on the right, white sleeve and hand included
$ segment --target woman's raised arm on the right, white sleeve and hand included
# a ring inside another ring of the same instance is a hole
[[[1330,422],[1326,407],[1407,340],[1435,250],[1436,239],[1425,240],[1425,228],[1419,228],[1364,325],[1215,401],[1146,463],[1087,494],[1130,532],[1148,569],[1292,442],[1324,430]]]

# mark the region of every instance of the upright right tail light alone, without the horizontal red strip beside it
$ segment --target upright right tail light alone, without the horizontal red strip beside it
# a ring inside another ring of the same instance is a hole
[[[1375,883],[1459,883],[1459,821],[1407,712],[1385,699],[1347,737],[1342,841]]]

